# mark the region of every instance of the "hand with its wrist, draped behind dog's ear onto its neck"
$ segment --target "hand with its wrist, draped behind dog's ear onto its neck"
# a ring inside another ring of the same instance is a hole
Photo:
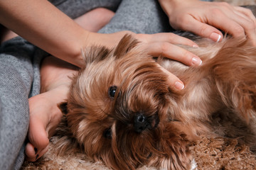
[[[117,45],[117,42],[119,42],[119,40],[121,40],[121,38],[127,33],[133,35],[134,38],[137,38],[137,40],[139,40],[141,44],[144,45],[144,48],[148,54],[154,57],[168,57],[172,60],[182,62],[188,66],[198,66],[202,62],[201,59],[193,53],[177,46],[188,45],[191,47],[198,47],[198,45],[196,45],[196,43],[192,40],[188,40],[187,38],[183,38],[174,33],[156,33],[152,35],[135,34],[129,31],[102,35],[96,33],[93,35],[94,38],[92,38],[92,40],[98,41],[95,42],[95,44],[114,47],[114,45]],[[97,38],[98,35],[100,35],[99,38]],[[178,90],[183,89],[184,85],[180,79],[178,79],[174,74],[167,72],[165,69],[163,70],[166,72],[166,74],[169,75],[171,87],[175,87]]]

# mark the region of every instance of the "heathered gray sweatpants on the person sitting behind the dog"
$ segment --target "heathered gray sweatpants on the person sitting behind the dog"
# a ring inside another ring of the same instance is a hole
[[[168,18],[156,0],[52,0],[70,18],[97,7],[116,14],[100,33],[169,32]],[[48,55],[23,38],[0,47],[0,169],[19,169],[24,160],[28,130],[28,98],[40,91],[40,62]]]

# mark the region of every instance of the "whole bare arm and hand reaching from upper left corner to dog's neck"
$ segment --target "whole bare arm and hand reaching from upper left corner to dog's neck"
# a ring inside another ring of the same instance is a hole
[[[80,67],[80,50],[92,44],[114,47],[125,33],[133,34],[154,56],[163,55],[188,65],[195,64],[196,57],[174,44],[196,45],[191,40],[171,33],[156,35],[137,35],[129,31],[112,34],[92,33],[81,28],[68,16],[46,0],[0,1],[0,23],[14,30],[26,40],[51,55]],[[174,52],[171,52],[172,51]],[[198,57],[197,57],[198,59]],[[199,62],[200,63],[200,62]],[[178,79],[174,77],[174,84]]]

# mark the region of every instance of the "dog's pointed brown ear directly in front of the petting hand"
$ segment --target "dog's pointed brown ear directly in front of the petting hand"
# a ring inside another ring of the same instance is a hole
[[[133,38],[132,35],[124,35],[114,50],[114,56],[117,58],[124,56],[129,50],[136,47],[138,43],[139,41]]]

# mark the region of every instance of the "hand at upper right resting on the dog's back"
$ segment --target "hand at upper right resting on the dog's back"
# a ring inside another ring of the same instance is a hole
[[[214,41],[222,40],[220,30],[256,45],[256,20],[252,11],[225,2],[159,0],[174,29],[187,30]],[[218,30],[220,29],[220,30]]]

